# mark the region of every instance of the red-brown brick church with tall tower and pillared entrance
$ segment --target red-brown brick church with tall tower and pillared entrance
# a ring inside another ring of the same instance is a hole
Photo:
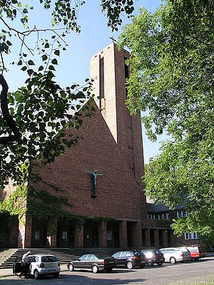
[[[174,237],[170,229],[171,218],[183,214],[182,208],[170,212],[164,205],[146,202],[141,118],[131,116],[125,105],[128,56],[115,43],[92,56],[96,111],[83,119],[85,130],[76,133],[83,140],[53,163],[34,167],[41,176],[36,190],[46,185],[53,194],[50,182],[63,189],[73,205],[67,211],[86,221],[80,227],[75,221],[56,220],[56,231],[49,234],[45,219],[26,214],[26,222],[17,225],[18,247],[139,248],[188,242],[185,236]]]

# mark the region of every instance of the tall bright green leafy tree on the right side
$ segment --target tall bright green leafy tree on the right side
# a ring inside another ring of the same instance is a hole
[[[146,194],[190,211],[174,221],[176,234],[213,234],[213,1],[168,0],[154,14],[142,8],[119,44],[131,49],[129,110],[148,110],[151,140],[163,130],[172,138],[147,168]]]

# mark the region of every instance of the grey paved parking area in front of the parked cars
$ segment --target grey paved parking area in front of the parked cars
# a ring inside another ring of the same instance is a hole
[[[44,276],[39,280],[19,279],[8,276],[0,279],[1,285],[16,284],[72,284],[72,285],[139,285],[139,284],[214,284],[214,257],[205,257],[200,261],[180,264],[163,264],[163,266],[144,269],[113,269],[111,273],[93,274],[88,271],[62,271],[58,279]]]

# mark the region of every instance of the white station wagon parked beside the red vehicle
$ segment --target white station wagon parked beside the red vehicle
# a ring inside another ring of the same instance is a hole
[[[166,247],[160,249],[163,252],[165,262],[175,264],[177,261],[191,261],[190,251],[185,247]]]

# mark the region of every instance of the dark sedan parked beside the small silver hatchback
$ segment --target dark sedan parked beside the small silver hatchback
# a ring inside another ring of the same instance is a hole
[[[111,272],[117,267],[116,259],[106,254],[84,254],[79,259],[68,262],[68,270],[88,270],[97,273],[101,270]]]

